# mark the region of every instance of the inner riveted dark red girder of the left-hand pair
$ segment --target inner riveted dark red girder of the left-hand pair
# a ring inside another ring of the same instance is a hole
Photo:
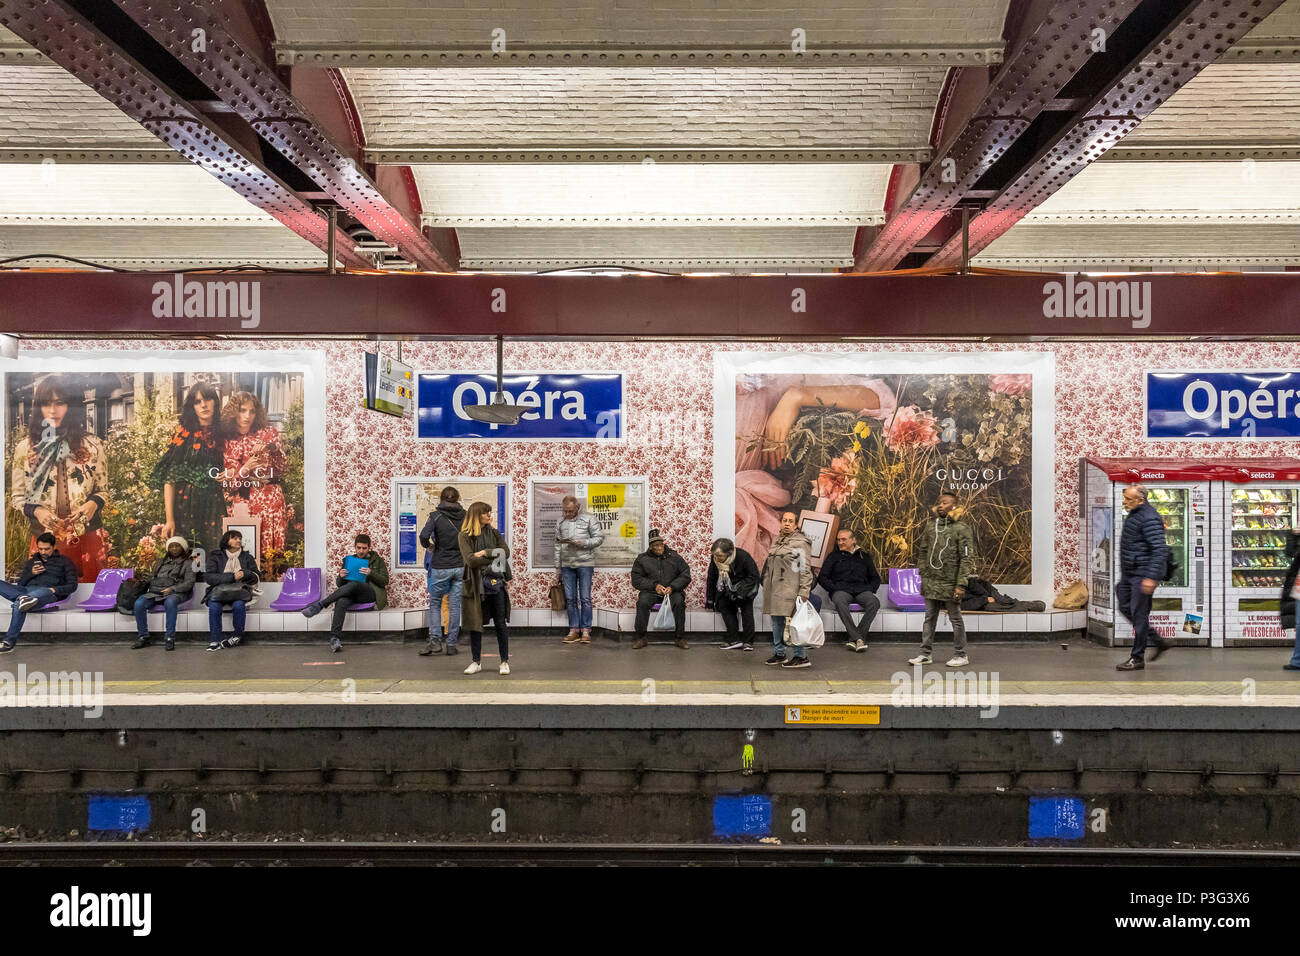
[[[376,238],[421,269],[455,271],[419,224],[403,216],[308,114],[261,52],[234,35],[221,17],[222,4],[118,0],[117,5]],[[195,30],[203,31],[202,43],[195,43]]]

